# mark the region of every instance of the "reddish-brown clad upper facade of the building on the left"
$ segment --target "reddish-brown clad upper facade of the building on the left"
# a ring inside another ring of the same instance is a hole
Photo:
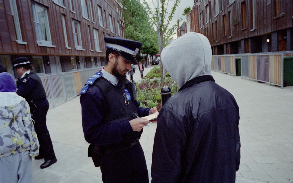
[[[108,0],[64,0],[64,4],[53,0],[1,2],[1,54],[103,57],[103,38],[106,35],[118,37],[119,33],[123,35],[122,8],[112,2],[110,5]],[[14,3],[13,6],[10,2]],[[101,16],[98,7],[102,10]],[[47,17],[46,25],[38,21],[40,13],[37,11],[40,9],[43,10],[41,16]],[[20,28],[16,30],[13,19],[17,15]],[[112,24],[109,24],[109,18]],[[108,29],[110,25],[112,30]]]

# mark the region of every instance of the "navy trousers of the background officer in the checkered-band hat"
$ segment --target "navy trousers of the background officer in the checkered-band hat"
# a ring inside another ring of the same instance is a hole
[[[46,160],[54,160],[56,158],[53,144],[51,141],[51,137],[46,125],[46,116],[49,109],[48,100],[44,100],[40,104],[38,104],[38,112],[35,112],[32,116],[33,120],[35,120],[34,127],[36,134],[38,136],[39,148],[40,148],[40,156],[43,156]]]

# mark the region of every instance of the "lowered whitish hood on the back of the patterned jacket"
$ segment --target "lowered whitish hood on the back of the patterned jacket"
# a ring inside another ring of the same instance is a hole
[[[25,99],[15,92],[0,92],[0,118],[16,117],[25,104]]]

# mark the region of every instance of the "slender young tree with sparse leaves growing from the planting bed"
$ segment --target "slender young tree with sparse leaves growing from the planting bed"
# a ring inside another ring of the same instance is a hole
[[[143,4],[149,15],[151,15],[152,20],[154,21],[156,27],[158,28],[160,35],[161,35],[161,42],[160,44],[160,54],[163,50],[163,46],[166,46],[170,41],[171,36],[173,35],[174,31],[177,28],[177,24],[173,25],[171,28],[170,21],[172,20],[176,8],[178,7],[180,0],[160,0],[160,7],[155,6],[154,0],[152,3],[154,4],[155,8],[151,9],[147,0],[143,0]],[[173,7],[171,8],[171,12],[168,12],[168,5],[170,2],[174,2]],[[159,14],[160,9],[160,14]],[[163,87],[164,78],[163,78],[163,64],[161,62],[161,86]]]

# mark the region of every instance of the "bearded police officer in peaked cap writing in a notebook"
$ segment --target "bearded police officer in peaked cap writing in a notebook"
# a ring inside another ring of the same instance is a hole
[[[126,79],[131,64],[138,64],[135,56],[142,43],[118,37],[104,40],[105,66],[86,81],[80,93],[84,137],[91,143],[88,153],[100,166],[103,182],[149,182],[138,141],[149,121],[139,117],[157,110],[139,107]]]

